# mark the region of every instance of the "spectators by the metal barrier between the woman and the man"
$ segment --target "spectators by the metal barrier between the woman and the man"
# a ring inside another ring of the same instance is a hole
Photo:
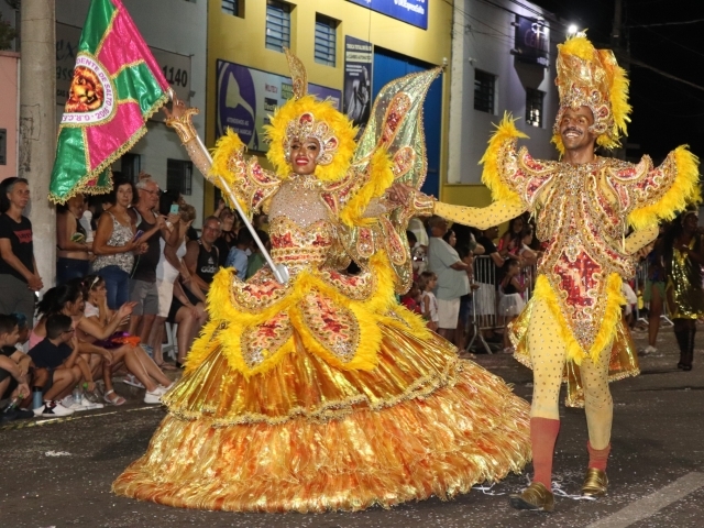
[[[502,331],[525,306],[528,282],[541,254],[530,220],[513,219],[501,237],[498,227],[450,229],[437,216],[421,226],[416,220],[410,228],[415,284],[403,304],[461,351],[471,332],[481,328],[484,340],[503,343],[504,351],[512,352]],[[479,255],[483,257],[476,260]]]

